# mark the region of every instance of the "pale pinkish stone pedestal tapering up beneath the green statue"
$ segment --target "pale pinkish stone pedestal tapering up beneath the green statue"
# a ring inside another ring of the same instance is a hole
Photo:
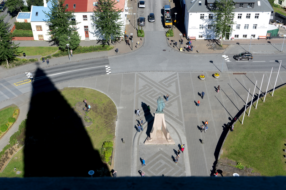
[[[155,113],[150,137],[147,138],[144,144],[175,144],[166,127],[164,113]]]

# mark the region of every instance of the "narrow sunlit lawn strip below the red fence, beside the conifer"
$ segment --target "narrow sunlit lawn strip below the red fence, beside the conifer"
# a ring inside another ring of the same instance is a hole
[[[56,52],[58,49],[58,47],[18,47],[17,52],[20,56],[22,56],[23,53],[25,53],[26,56],[47,56]]]

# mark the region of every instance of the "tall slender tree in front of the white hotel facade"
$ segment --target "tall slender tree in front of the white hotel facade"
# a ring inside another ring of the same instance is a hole
[[[221,37],[221,46],[223,44],[223,38],[226,33],[231,33],[234,29],[231,27],[236,24],[233,21],[235,2],[233,0],[215,0],[214,7],[211,10],[215,15],[215,21],[212,23],[212,30],[217,37]]]

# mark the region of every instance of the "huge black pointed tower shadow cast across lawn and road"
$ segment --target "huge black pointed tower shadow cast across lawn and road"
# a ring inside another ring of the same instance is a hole
[[[39,76],[45,76],[41,69],[33,77]],[[25,177],[90,177],[90,170],[96,177],[97,169],[108,169],[81,119],[49,77],[35,80],[34,88],[27,114]],[[110,176],[108,170],[106,174]]]

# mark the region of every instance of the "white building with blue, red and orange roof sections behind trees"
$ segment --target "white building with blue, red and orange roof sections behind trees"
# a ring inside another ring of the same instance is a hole
[[[49,31],[50,23],[45,22],[47,18],[43,11],[48,12],[51,7],[51,1],[48,3],[44,1],[44,6],[32,6],[31,7],[31,26],[33,30],[34,40],[51,40],[53,36],[47,34]],[[120,13],[120,20],[123,22],[122,34],[124,32],[126,24],[126,12],[124,7],[127,6],[127,0],[114,0],[118,1],[116,8],[122,9]],[[81,40],[100,40],[104,39],[104,36],[100,35],[100,32],[93,23],[94,7],[97,6],[96,0],[65,0],[65,6],[68,7],[68,11],[74,10],[74,17],[72,20],[79,22],[79,24],[72,26],[75,31],[80,34]]]

